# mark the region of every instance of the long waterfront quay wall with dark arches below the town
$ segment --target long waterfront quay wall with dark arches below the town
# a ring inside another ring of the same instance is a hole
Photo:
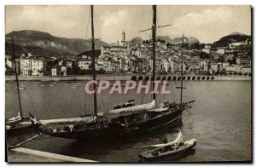
[[[20,81],[88,81],[92,77],[86,76],[19,76]],[[148,81],[152,78],[146,74],[125,74],[125,75],[97,75],[97,80],[134,80]],[[181,77],[178,75],[156,75],[156,80],[179,81]],[[248,81],[251,77],[244,76],[213,76],[213,75],[183,75],[186,81]],[[5,76],[5,81],[15,81],[15,76]]]

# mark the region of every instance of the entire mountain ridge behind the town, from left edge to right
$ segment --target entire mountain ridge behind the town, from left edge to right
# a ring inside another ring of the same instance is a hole
[[[89,51],[91,47],[90,39],[55,37],[49,32],[41,32],[36,30],[22,30],[18,32],[10,32],[5,35],[5,54],[12,55],[11,35],[14,37],[15,54],[22,55],[29,52],[35,55],[44,56],[73,56],[79,55],[84,51]],[[237,43],[247,39],[251,39],[250,35],[241,32],[232,32],[229,35],[221,37],[218,41],[210,43],[213,48],[228,46],[229,43]],[[179,44],[182,43],[182,37],[171,38],[169,36],[157,36],[156,40],[164,40],[166,43]],[[142,44],[143,38],[134,37],[127,43]],[[195,37],[184,37],[184,43],[200,43]],[[103,45],[110,46],[101,40],[96,40],[96,49],[101,49]]]

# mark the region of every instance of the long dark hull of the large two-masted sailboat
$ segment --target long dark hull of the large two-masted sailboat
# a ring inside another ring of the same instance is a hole
[[[118,139],[126,139],[134,137],[134,135],[143,135],[150,130],[159,129],[161,127],[180,123],[183,110],[181,108],[176,109],[172,112],[162,113],[159,117],[151,118],[148,120],[142,120],[135,124],[130,124],[129,127],[121,126],[117,124],[109,124],[106,128],[100,129],[86,129],[86,130],[75,130],[75,131],[58,131],[48,132],[47,135],[86,141],[116,141]]]

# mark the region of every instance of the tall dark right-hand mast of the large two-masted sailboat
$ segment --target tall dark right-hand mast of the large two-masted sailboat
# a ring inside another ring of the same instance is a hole
[[[152,52],[153,52],[153,74],[152,74],[152,78],[153,78],[153,90],[154,90],[154,80],[155,80],[155,34],[156,34],[156,5],[153,5],[153,25],[152,25],[152,42],[153,42],[153,47],[152,47]],[[153,92],[153,100],[156,99],[156,95]]]

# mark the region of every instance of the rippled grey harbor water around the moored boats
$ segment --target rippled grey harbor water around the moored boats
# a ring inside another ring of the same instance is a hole
[[[55,86],[43,82],[24,81],[26,89],[20,89],[22,110],[25,117],[32,112],[38,119],[73,118],[82,113],[93,113],[92,95],[85,95],[84,83],[79,87],[67,82],[55,82]],[[171,95],[158,95],[158,101],[179,102],[179,82],[172,81]],[[23,145],[39,151],[58,153],[78,158],[88,158],[101,162],[138,162],[138,153],[145,149],[135,149],[156,144],[167,137],[172,141],[181,128],[183,140],[197,140],[195,149],[182,157],[165,161],[212,162],[249,161],[251,154],[251,82],[250,81],[189,81],[185,83],[183,101],[195,100],[193,107],[183,113],[181,127],[166,127],[142,137],[120,140],[111,144],[88,145],[81,141],[67,140],[42,135]],[[98,111],[106,112],[114,104],[134,99],[136,104],[147,103],[152,95],[97,95]],[[6,83],[6,118],[15,117],[19,111],[16,83]]]

